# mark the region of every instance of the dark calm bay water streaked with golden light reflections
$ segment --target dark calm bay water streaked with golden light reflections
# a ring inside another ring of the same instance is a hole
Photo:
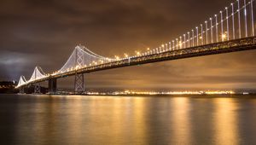
[[[256,96],[0,95],[1,144],[256,144]]]

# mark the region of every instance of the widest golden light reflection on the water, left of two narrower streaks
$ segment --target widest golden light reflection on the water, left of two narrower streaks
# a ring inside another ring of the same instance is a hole
[[[145,140],[144,98],[86,96],[68,104],[68,142],[99,140],[106,144],[129,144]],[[88,98],[89,97],[89,98]],[[83,103],[86,101],[87,103]],[[86,105],[84,105],[86,104]],[[93,126],[93,127],[92,127]],[[84,130],[87,129],[87,130]],[[133,132],[131,134],[131,132]],[[94,136],[94,137],[87,137]],[[124,138],[130,138],[124,140]]]

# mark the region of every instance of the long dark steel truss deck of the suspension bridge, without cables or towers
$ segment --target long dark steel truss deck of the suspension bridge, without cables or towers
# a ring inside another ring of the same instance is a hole
[[[230,41],[225,41],[225,42],[216,43],[216,44],[201,45],[201,46],[191,47],[187,49],[170,50],[170,51],[165,51],[165,52],[161,52],[159,54],[154,54],[154,55],[143,55],[143,56],[133,57],[130,59],[113,61],[113,62],[99,64],[92,67],[80,68],[78,70],[70,71],[68,73],[50,75],[49,77],[41,78],[24,85],[40,83],[40,82],[49,80],[51,78],[64,78],[67,76],[73,76],[75,74],[80,74],[80,73],[92,73],[92,72],[113,69],[118,67],[129,67],[129,66],[142,65],[142,64],[160,62],[160,61],[172,61],[172,60],[184,59],[189,57],[197,57],[197,56],[203,56],[203,55],[217,55],[217,54],[230,53],[230,52],[249,50],[249,49],[256,49],[256,37],[241,38],[241,39],[230,40]],[[21,85],[21,86],[24,86],[24,85]]]

